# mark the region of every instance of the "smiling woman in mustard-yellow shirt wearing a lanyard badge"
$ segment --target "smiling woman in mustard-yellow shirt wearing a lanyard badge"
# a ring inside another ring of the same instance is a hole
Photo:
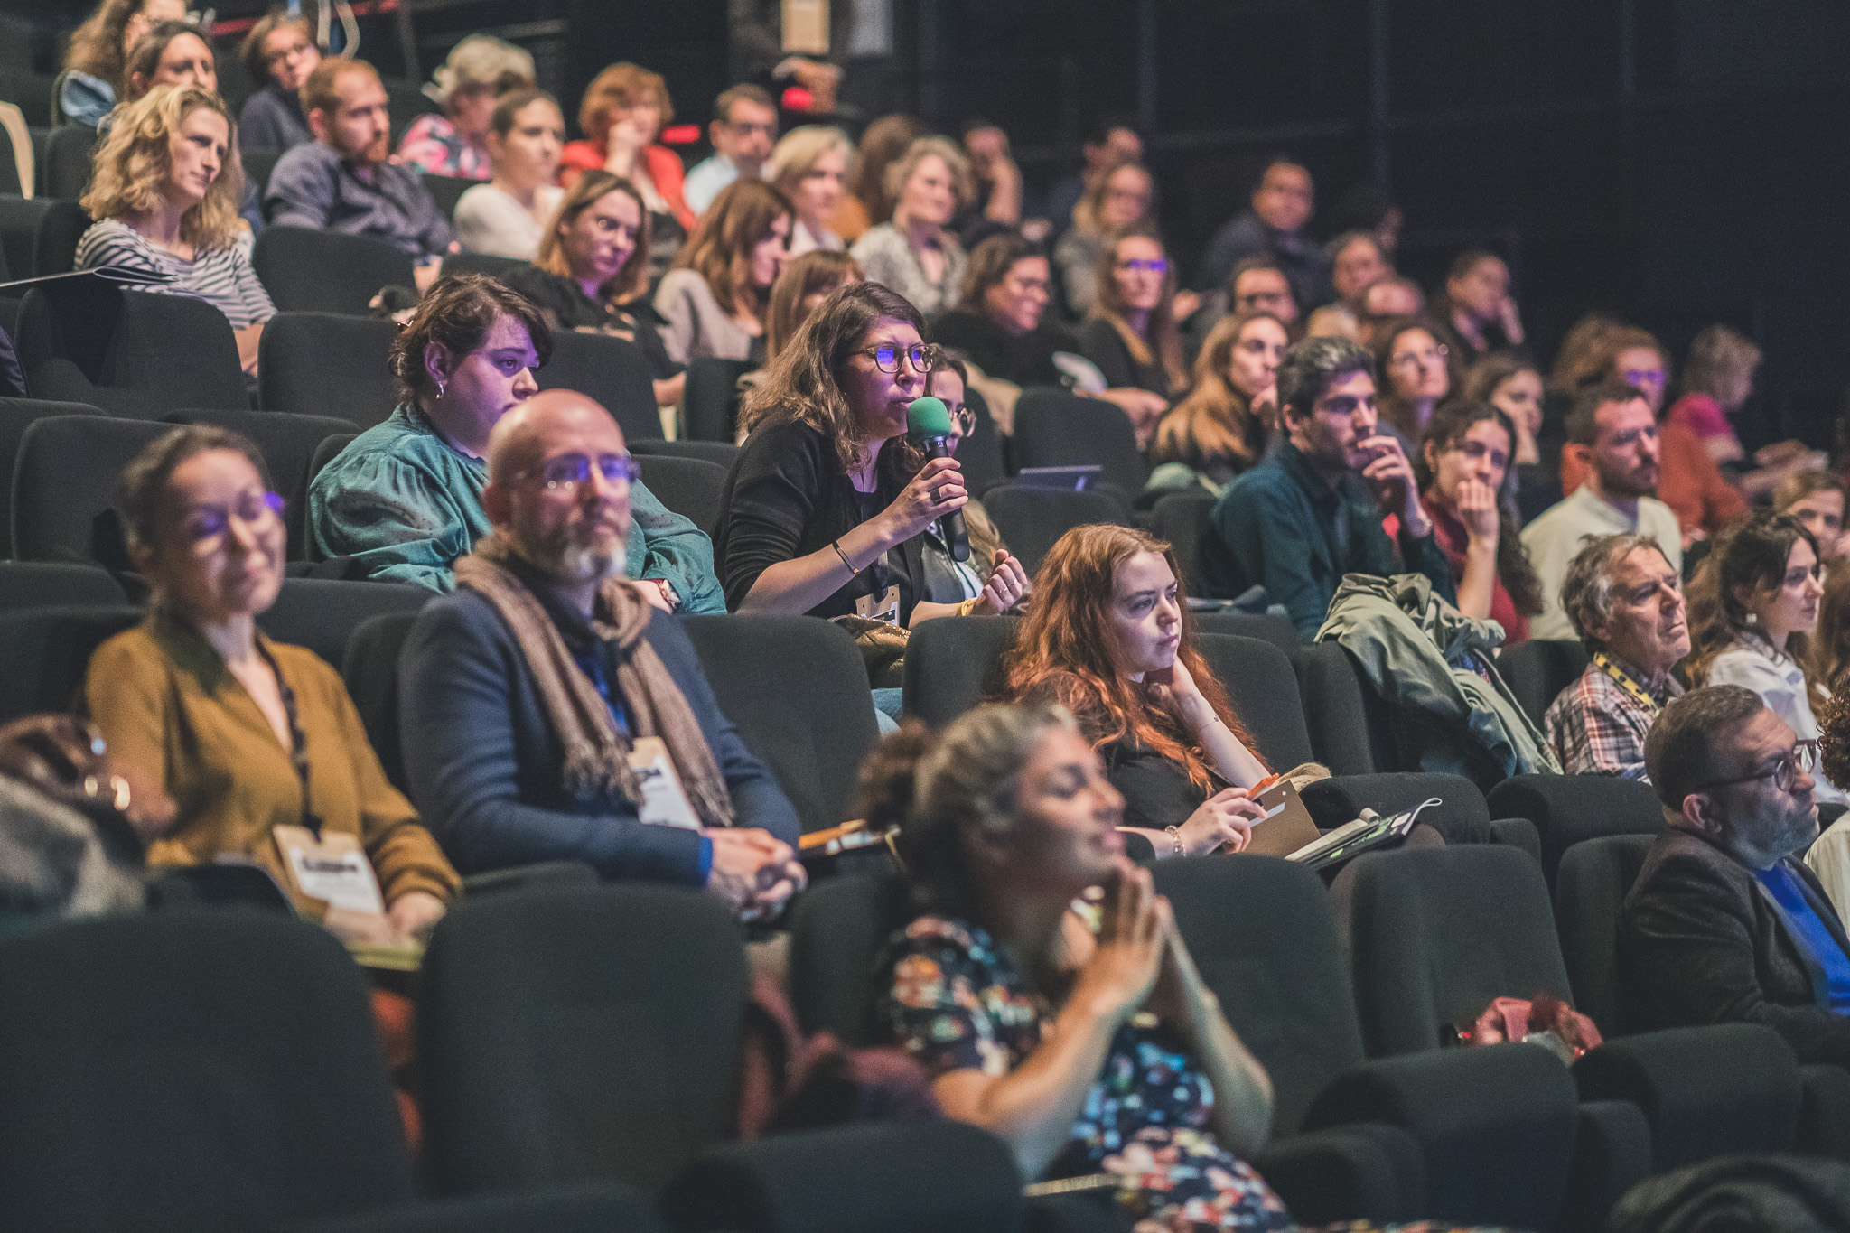
[[[91,656],[83,699],[109,752],[170,797],[178,824],[152,865],[253,860],[348,941],[403,945],[461,889],[416,812],[385,778],[340,675],[274,643],[255,617],[283,586],[283,501],[242,436],[166,433],[122,471],[117,512],[148,580],[148,619]],[[283,826],[300,830],[283,830]],[[350,902],[292,871],[340,836],[372,876]],[[357,904],[372,898],[372,911]]]

